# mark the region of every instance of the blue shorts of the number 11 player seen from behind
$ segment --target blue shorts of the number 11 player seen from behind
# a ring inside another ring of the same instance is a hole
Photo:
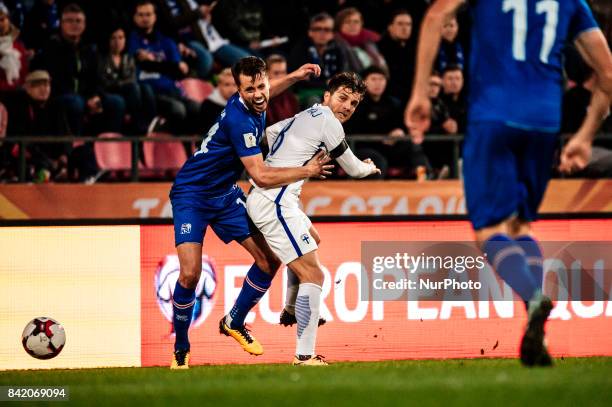
[[[537,219],[559,146],[556,133],[469,123],[463,145],[467,211],[475,230],[512,217]]]

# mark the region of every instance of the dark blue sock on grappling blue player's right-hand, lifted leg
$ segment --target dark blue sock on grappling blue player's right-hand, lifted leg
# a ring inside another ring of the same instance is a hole
[[[230,328],[237,329],[244,325],[244,319],[249,311],[259,302],[266,293],[273,276],[264,273],[257,264],[253,263],[242,284],[236,303],[229,313]]]

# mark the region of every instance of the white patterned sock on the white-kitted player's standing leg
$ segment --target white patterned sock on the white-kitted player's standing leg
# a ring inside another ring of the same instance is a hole
[[[319,325],[321,287],[313,283],[302,283],[295,300],[295,319],[297,320],[296,355],[313,356]]]

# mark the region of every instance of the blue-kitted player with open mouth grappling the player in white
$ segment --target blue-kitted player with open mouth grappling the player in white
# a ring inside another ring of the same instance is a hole
[[[232,310],[231,326],[222,320],[220,328],[247,352],[262,353],[259,342],[244,327],[244,317],[270,286],[280,261],[249,221],[246,198],[236,185],[242,172],[246,169],[258,185],[276,187],[306,178],[325,178],[333,167],[327,164],[329,158],[322,152],[303,167],[268,167],[264,165],[259,148],[270,95],[310,75],[318,76],[318,65],[303,65],[270,84],[265,62],[246,57],[234,65],[232,74],[238,92],[227,102],[200,149],[183,165],[170,191],[175,243],[181,265],[172,299],[176,333],[173,369],[189,367],[188,329],[195,288],[202,272],[202,242],[208,226],[223,242],[238,242],[255,260]]]

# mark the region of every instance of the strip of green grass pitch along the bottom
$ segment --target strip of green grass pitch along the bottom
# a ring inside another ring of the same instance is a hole
[[[612,358],[537,369],[477,359],[0,372],[8,385],[69,386],[70,404],[86,406],[610,406]]]

